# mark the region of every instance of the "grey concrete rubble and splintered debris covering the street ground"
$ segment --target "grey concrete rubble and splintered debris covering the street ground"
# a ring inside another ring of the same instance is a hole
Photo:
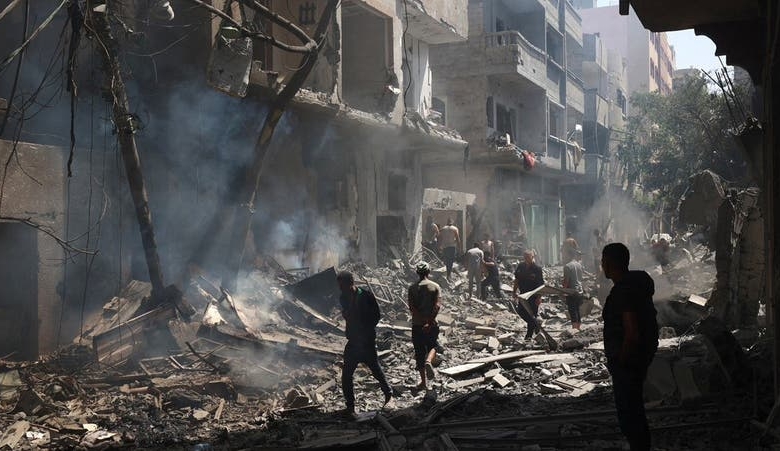
[[[380,362],[396,395],[395,409],[380,410],[378,386],[360,367],[357,421],[336,413],[345,338],[334,268],[304,278],[269,259],[235,295],[197,277],[185,297],[198,313],[186,320],[175,308],[145,312],[150,286],[133,281],[71,346],[37,362],[0,362],[0,449],[582,449],[586,439],[619,449],[595,276],[586,275],[583,327],[572,331],[562,268],[544,269],[540,318],[553,350],[542,335],[523,340],[525,323],[508,302],[515,264],[501,263],[503,299],[485,301],[467,299],[465,273],[447,281],[443,267],[433,271],[444,352],[427,392],[415,388],[411,262],[339,268],[379,301]],[[748,355],[717,323],[697,327],[664,329],[645,388],[653,428],[744,422],[739,409],[708,400],[733,396]],[[680,433],[674,443],[739,439],[710,432]]]

